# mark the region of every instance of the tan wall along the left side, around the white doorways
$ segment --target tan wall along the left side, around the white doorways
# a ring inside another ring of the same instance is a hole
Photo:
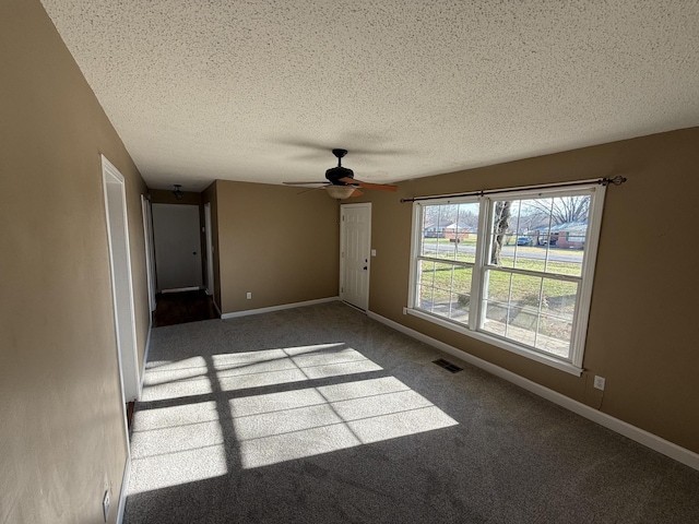
[[[0,522],[103,522],[127,451],[99,154],[127,179],[141,361],[145,187],[38,0],[0,4]]]

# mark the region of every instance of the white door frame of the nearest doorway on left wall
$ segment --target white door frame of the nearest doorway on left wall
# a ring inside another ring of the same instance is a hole
[[[133,282],[131,277],[126,182],[119,170],[104,155],[100,155],[100,157],[107,219],[111,299],[117,338],[117,360],[125,405],[125,430],[127,431],[128,440],[126,404],[140,397],[141,381],[139,380],[139,354],[135,334]]]

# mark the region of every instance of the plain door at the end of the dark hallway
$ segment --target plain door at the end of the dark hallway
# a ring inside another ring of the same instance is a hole
[[[158,290],[201,288],[199,206],[152,204],[152,209]]]

